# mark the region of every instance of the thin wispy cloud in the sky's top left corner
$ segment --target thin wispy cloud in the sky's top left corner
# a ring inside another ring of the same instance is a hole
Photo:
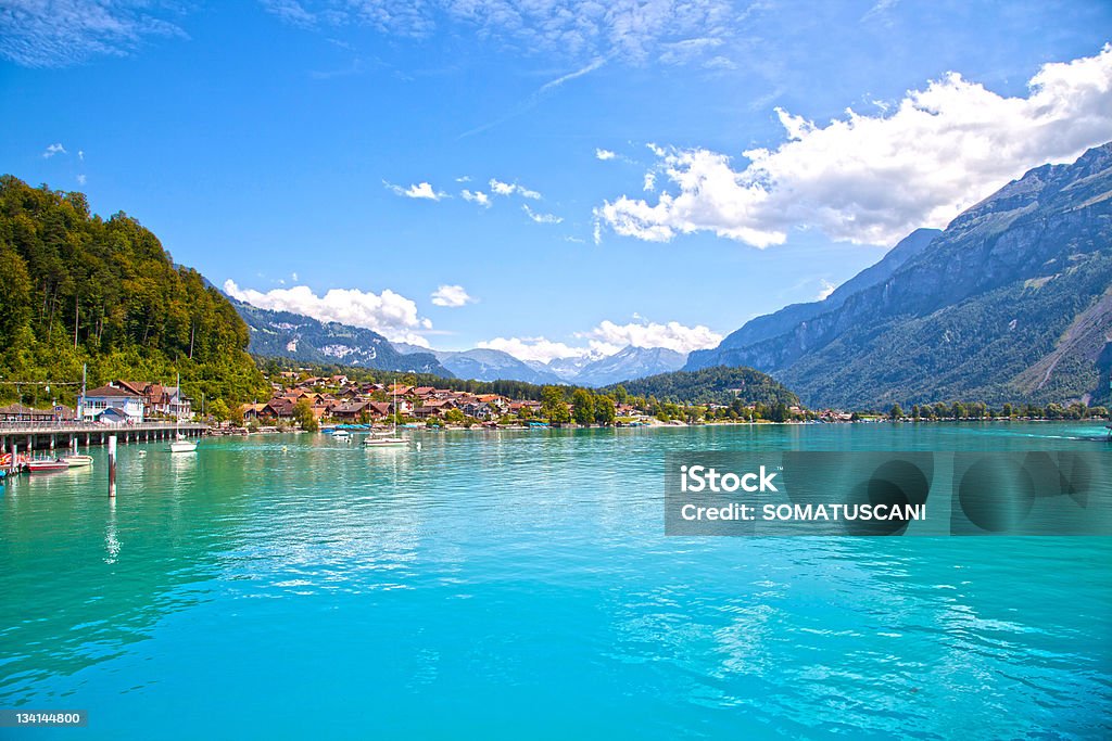
[[[157,0],[7,0],[0,57],[23,67],[68,67],[123,57],[150,38],[187,38],[177,9]]]

